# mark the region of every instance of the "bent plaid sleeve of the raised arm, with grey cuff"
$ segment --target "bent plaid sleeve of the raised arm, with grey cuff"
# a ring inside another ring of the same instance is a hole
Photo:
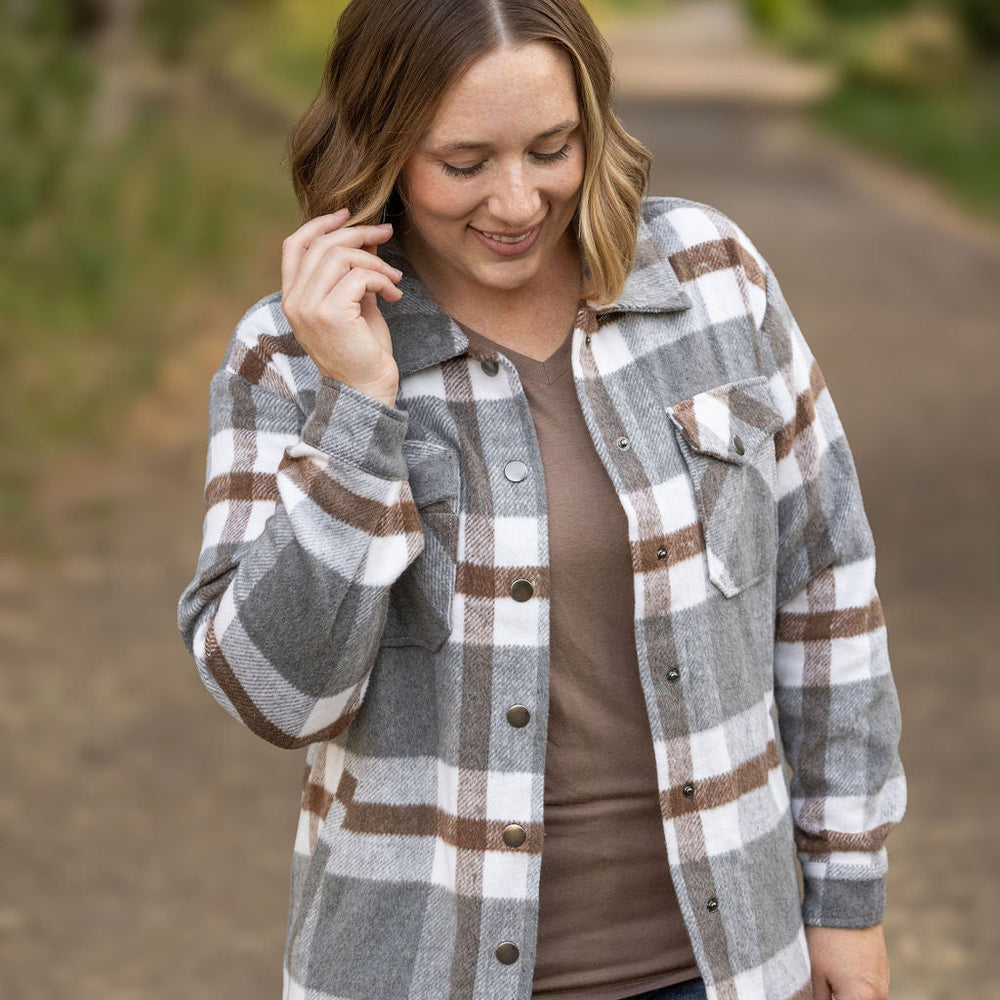
[[[215,699],[293,748],[357,713],[389,588],[423,533],[406,415],[329,379],[295,393],[278,308],[240,321],[212,380],[202,546],[178,625]]]

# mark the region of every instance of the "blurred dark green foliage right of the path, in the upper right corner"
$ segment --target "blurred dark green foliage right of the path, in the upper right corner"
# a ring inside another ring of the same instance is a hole
[[[837,70],[817,120],[1000,219],[1000,0],[741,0],[765,39]]]

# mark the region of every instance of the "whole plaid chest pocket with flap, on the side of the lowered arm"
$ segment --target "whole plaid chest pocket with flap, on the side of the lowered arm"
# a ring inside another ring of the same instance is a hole
[[[694,488],[709,579],[734,597],[774,571],[774,433],[784,421],[763,375],[700,392],[668,412]]]

